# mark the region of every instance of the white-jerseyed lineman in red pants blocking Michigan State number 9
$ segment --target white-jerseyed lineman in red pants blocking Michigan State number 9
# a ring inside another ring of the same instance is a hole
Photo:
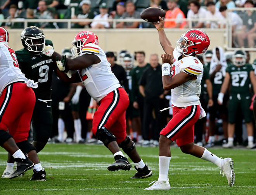
[[[94,113],[92,132],[114,154],[116,161],[107,169],[130,170],[131,164],[120,151],[121,147],[135,162],[137,173],[132,178],[151,176],[152,171],[138,155],[135,143],[126,136],[125,110],[129,105],[129,98],[111,72],[110,63],[107,62],[104,51],[98,46],[97,35],[90,31],[81,31],[75,36],[72,45],[73,59],[54,52],[52,46],[46,46],[43,53],[61,60],[57,61],[59,70],[69,70],[69,77],[63,72],[65,78],[60,77],[61,79],[68,82],[82,80],[88,93],[100,104]],[[78,71],[70,75],[71,70]]]

